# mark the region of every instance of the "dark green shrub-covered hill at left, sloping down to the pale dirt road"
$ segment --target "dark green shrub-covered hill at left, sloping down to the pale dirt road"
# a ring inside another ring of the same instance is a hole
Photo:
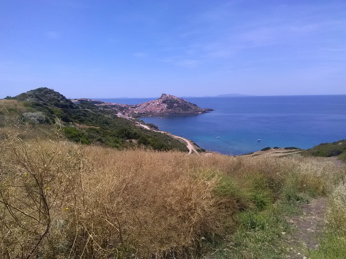
[[[18,116],[22,122],[35,124],[36,127],[59,123],[68,139],[82,144],[116,148],[144,145],[154,150],[188,151],[179,140],[138,127],[134,121],[115,116],[111,108],[100,108],[90,102],[77,106],[60,93],[45,87],[7,97],[7,100],[2,100],[2,106],[0,124],[6,116]]]

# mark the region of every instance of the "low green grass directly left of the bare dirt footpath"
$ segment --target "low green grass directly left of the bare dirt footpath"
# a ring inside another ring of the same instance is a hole
[[[292,232],[286,217],[298,212],[296,204],[279,202],[263,211],[239,213],[238,230],[231,240],[217,243],[215,258],[285,258],[290,249],[284,240]]]

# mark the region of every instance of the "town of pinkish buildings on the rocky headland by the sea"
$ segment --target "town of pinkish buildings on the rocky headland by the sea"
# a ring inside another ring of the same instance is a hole
[[[213,109],[202,109],[183,98],[169,94],[162,94],[161,97],[156,100],[135,105],[106,103],[100,100],[86,98],[71,100],[74,104],[88,101],[99,106],[99,108],[113,109],[117,116],[127,119],[150,115],[205,113],[213,111]]]

